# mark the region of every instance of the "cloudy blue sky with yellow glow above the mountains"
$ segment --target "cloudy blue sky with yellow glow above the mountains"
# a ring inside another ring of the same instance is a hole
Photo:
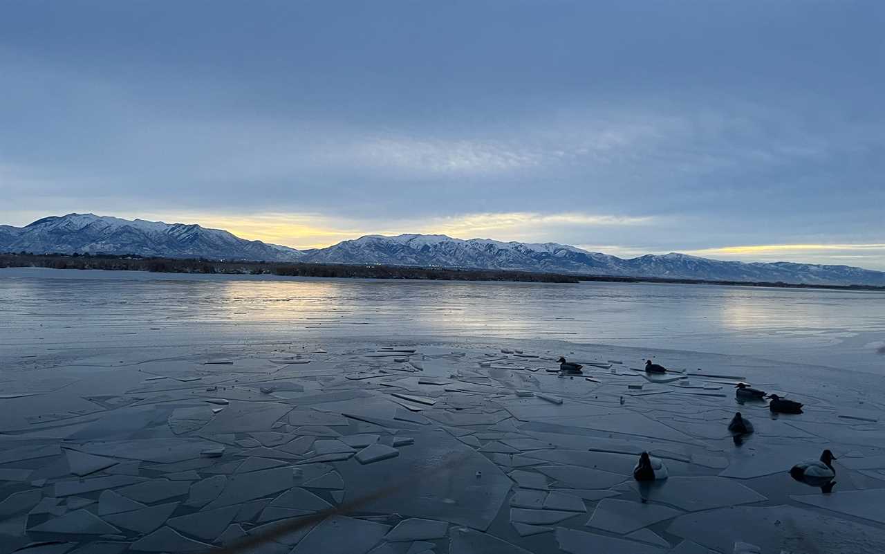
[[[0,2],[0,224],[885,270],[881,0]]]

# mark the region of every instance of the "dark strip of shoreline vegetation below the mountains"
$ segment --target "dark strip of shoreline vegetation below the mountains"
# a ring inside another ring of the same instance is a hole
[[[337,277],[351,279],[414,279],[424,281],[517,281],[578,283],[581,281],[674,283],[685,285],[729,285],[780,287],[786,289],[885,290],[873,285],[809,285],[786,282],[706,281],[656,277],[618,277],[535,273],[525,271],[413,267],[409,265],[311,264],[299,262],[256,262],[201,258],[151,258],[106,254],[0,254],[0,267],[44,267],[49,269],[100,269],[151,273],[204,273],[229,275],[277,275],[282,277]]]

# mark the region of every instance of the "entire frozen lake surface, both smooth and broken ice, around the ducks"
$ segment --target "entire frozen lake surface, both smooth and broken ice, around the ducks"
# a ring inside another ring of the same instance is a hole
[[[883,299],[0,270],[0,554],[882,552]]]

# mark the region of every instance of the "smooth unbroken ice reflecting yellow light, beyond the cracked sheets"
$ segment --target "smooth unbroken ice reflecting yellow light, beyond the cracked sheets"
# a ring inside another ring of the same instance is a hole
[[[885,374],[885,357],[875,354],[885,341],[885,292],[0,270],[7,345],[176,342],[182,326],[189,340],[196,333],[207,343],[281,335],[546,338]],[[65,333],[49,339],[58,329]]]

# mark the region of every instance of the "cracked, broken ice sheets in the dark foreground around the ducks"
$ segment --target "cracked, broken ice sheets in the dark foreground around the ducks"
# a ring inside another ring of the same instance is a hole
[[[689,375],[649,382],[630,369],[642,350],[344,340],[327,329],[353,326],[331,316],[307,334],[247,326],[241,339],[261,339],[248,341],[181,324],[186,343],[153,332],[120,349],[128,339],[103,335],[142,329],[104,313],[91,330],[43,332],[39,348],[0,342],[0,554],[204,551],[388,486],[258,551],[885,550],[875,380],[658,352]],[[547,372],[563,354],[593,381]],[[612,373],[608,359],[624,363]],[[729,379],[695,373],[742,376],[805,413],[739,404]],[[737,411],[756,427],[739,445],[726,428]],[[787,473],[824,448],[839,458],[829,496]],[[643,450],[668,480],[633,481]]]

